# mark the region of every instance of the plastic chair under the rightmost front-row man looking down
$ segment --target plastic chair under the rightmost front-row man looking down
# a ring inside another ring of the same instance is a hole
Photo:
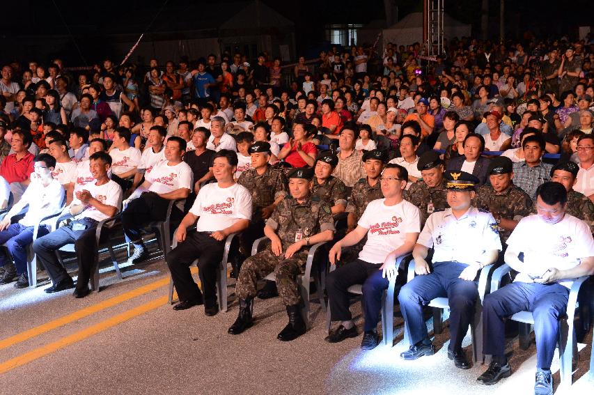
[[[497,291],[501,286],[501,279],[503,276],[512,271],[509,265],[503,264],[493,272],[491,279],[491,292]],[[559,348],[559,373],[561,375],[561,385],[571,385],[572,383],[572,361],[574,352],[577,355],[577,338],[575,334],[574,318],[575,311],[579,309],[577,303],[577,295],[582,284],[588,279],[588,276],[579,277],[573,281],[570,288],[568,299],[568,311],[565,318],[561,320],[561,327],[559,330],[558,348]],[[573,308],[569,308],[569,307]],[[526,350],[529,345],[529,335],[531,332],[531,325],[534,325],[534,318],[532,311],[519,311],[509,318],[519,324],[519,345],[520,348]],[[594,353],[590,362],[590,373],[594,368]]]

